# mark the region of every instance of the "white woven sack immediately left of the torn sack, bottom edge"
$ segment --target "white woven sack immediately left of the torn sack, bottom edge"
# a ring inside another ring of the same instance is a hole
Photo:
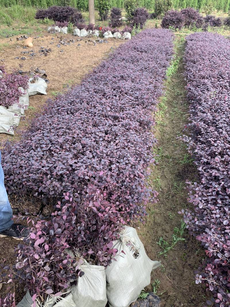
[[[78,278],[77,285],[71,289],[71,294],[54,307],[105,307],[107,303],[105,267],[87,263],[80,268],[85,274]]]

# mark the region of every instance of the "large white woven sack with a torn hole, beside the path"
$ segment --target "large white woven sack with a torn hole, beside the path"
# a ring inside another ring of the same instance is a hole
[[[107,299],[110,307],[128,307],[150,284],[151,271],[161,263],[148,258],[136,229],[132,227],[125,226],[113,248],[118,250],[118,255],[117,261],[112,261],[105,270]]]

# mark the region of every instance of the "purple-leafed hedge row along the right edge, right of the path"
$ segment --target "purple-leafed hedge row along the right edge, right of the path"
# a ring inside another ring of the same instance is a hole
[[[208,305],[223,307],[230,304],[230,41],[195,33],[186,42],[191,135],[185,141],[199,180],[189,187],[194,210],[183,213],[208,256],[196,282],[205,282],[213,291]]]

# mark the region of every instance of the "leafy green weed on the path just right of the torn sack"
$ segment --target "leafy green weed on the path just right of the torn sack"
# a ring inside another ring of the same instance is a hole
[[[183,234],[184,234],[184,230],[186,228],[186,224],[183,220],[181,220],[181,226],[180,228],[175,227],[173,229],[173,235],[172,235],[172,242],[169,243],[168,241],[166,241],[165,239],[163,239],[162,237],[159,238],[159,241],[157,242],[157,244],[161,247],[161,249],[163,251],[159,252],[159,254],[157,255],[158,257],[161,255],[164,255],[165,258],[167,257],[167,253],[180,241],[185,241],[186,239],[182,238]]]

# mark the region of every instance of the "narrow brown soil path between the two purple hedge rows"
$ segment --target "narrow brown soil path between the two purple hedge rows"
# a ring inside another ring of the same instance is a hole
[[[178,52],[182,56],[182,46]],[[185,241],[177,243],[166,256],[157,256],[163,251],[157,244],[159,238],[171,245],[174,227],[181,228],[183,216],[178,211],[188,206],[185,181],[194,180],[196,176],[186,148],[177,138],[183,134],[188,118],[182,72],[181,58],[178,73],[166,82],[166,99],[163,98],[162,103],[166,104],[167,110],[164,115],[159,112],[157,115],[155,135],[159,141],[154,151],[159,154],[159,164],[152,166],[149,184],[159,192],[159,202],[149,204],[146,223],[136,225],[148,256],[162,262],[161,269],[153,271],[151,278],[153,286],[156,286],[156,280],[160,282],[156,289],[162,299],[162,307],[201,307],[206,301],[205,289],[201,284],[195,285],[194,278],[194,271],[201,265],[205,253],[186,229],[181,236]],[[149,285],[145,290],[152,291],[153,287]]]

